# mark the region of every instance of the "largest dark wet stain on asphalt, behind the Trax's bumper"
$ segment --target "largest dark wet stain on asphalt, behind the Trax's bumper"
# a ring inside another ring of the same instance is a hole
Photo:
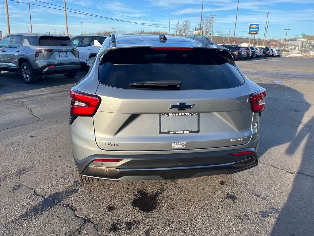
[[[135,194],[136,199],[133,199],[132,206],[138,207],[143,212],[154,211],[158,207],[159,196],[162,192],[166,190],[165,184],[161,186],[156,192],[151,193],[145,192],[145,188],[138,189],[137,194]]]

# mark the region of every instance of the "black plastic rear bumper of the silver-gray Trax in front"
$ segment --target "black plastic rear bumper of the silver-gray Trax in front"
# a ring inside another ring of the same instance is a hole
[[[252,154],[232,155],[232,153],[246,151],[251,151]],[[97,158],[123,160],[110,164],[93,162]],[[257,152],[254,148],[200,153],[92,155],[83,160],[74,158],[74,161],[83,176],[109,180],[176,179],[231,174],[258,164]]]

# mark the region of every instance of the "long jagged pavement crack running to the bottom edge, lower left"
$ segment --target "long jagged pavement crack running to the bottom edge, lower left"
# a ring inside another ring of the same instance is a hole
[[[73,211],[73,214],[74,214],[75,217],[84,219],[84,222],[83,222],[83,224],[80,226],[80,228],[78,228],[77,230],[75,230],[74,232],[72,232],[70,235],[73,235],[73,233],[75,233],[75,232],[79,232],[79,234],[80,234],[80,232],[82,231],[82,227],[83,227],[86,223],[91,223],[91,224],[93,225],[93,227],[95,228],[95,230],[97,231],[97,234],[100,235],[100,236],[103,236],[103,235],[100,233],[100,231],[99,231],[98,225],[97,225],[95,222],[93,222],[91,219],[89,219],[88,217],[86,217],[86,216],[79,216],[79,215],[76,213],[76,208],[75,208],[74,206],[69,205],[69,204],[63,204],[63,203],[61,203],[61,202],[59,202],[59,201],[57,201],[57,200],[55,200],[55,199],[52,199],[52,198],[49,198],[49,197],[45,196],[44,194],[39,194],[39,193],[37,193],[37,191],[36,191],[35,188],[31,188],[30,186],[27,186],[27,185],[21,183],[21,176],[22,176],[24,173],[25,173],[25,171],[23,171],[23,169],[21,169],[21,171],[19,171],[19,180],[18,180],[18,182],[17,182],[18,185],[24,186],[24,187],[26,187],[26,188],[32,190],[35,196],[41,197],[42,199],[48,199],[48,200],[52,201],[55,205],[60,205],[60,206],[64,206],[64,207],[66,207],[66,208],[69,208],[71,211]]]

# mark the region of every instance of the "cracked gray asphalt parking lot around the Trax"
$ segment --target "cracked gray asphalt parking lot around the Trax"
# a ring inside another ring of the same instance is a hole
[[[0,74],[0,235],[314,235],[314,59],[236,63],[267,89],[259,165],[233,175],[98,181],[74,176],[75,79]]]

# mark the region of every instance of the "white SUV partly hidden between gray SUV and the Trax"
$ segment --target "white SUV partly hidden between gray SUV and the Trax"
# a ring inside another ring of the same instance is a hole
[[[81,65],[85,65],[86,59],[96,56],[101,44],[105,41],[107,37],[108,36],[83,35],[71,39],[73,44],[79,50],[79,60],[81,62]]]

